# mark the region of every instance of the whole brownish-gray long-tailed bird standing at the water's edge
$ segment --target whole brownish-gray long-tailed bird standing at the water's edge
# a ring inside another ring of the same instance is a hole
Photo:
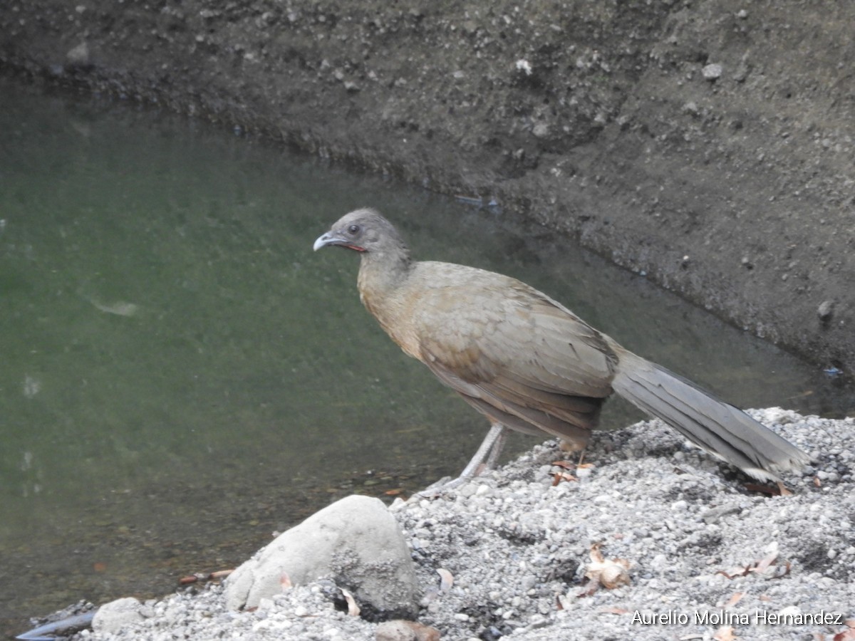
[[[365,307],[405,353],[491,421],[461,479],[491,465],[504,428],[562,438],[583,449],[613,391],[757,479],[808,456],[745,412],[624,350],[533,287],[483,269],[416,262],[389,221],[357,209],[315,241],[362,256]]]

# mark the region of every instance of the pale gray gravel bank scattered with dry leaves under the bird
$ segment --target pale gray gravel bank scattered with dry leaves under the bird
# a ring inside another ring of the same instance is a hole
[[[753,490],[653,420],[599,432],[587,467],[553,465],[566,456],[547,442],[439,499],[398,500],[419,621],[486,641],[855,638],[855,419],[749,413],[815,459],[784,479],[792,496]],[[628,584],[598,583],[598,553],[601,569],[628,565]],[[333,593],[321,581],[231,612],[212,585],[145,603],[121,633],[77,638],[373,641],[378,625],[336,609]]]

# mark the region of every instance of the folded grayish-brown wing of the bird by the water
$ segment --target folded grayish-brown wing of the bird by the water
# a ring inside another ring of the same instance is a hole
[[[611,393],[604,338],[517,280],[475,275],[430,288],[413,319],[422,362],[447,385],[546,432],[561,430],[545,416],[590,429]]]

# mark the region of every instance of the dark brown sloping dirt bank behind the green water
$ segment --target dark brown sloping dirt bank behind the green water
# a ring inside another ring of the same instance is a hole
[[[852,371],[853,24],[819,0],[12,0],[0,69],[494,198]]]

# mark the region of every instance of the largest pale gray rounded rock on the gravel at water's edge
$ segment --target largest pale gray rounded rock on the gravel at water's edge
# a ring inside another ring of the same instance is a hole
[[[226,580],[229,609],[251,608],[290,581],[333,579],[360,604],[415,615],[418,590],[398,523],[376,498],[351,496],[311,515],[238,567]]]

